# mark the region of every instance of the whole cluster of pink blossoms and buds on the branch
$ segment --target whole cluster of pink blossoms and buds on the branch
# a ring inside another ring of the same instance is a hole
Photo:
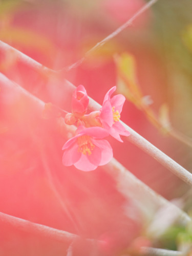
[[[75,89],[72,113],[65,116],[65,122],[75,124],[77,130],[76,135],[62,147],[65,150],[63,165],[74,165],[85,172],[94,170],[97,166],[108,163],[113,157],[112,147],[104,138],[111,135],[122,142],[120,135],[130,135],[119,122],[125,97],[121,94],[111,97],[115,90],[116,87],[113,87],[106,93],[99,111],[86,114],[89,104],[86,89],[82,85]]]

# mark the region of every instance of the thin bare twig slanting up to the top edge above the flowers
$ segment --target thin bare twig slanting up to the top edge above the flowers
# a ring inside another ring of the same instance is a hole
[[[124,29],[127,27],[131,26],[134,20],[140,16],[143,12],[145,12],[147,9],[149,9],[152,5],[154,5],[158,0],[151,0],[147,4],[145,4],[142,8],[140,8],[129,20],[127,20],[123,25],[121,25],[119,28],[117,28],[113,33],[110,35],[106,36],[104,39],[102,39],[100,42],[98,42],[93,48],[91,48],[89,51],[84,54],[84,57],[73,63],[67,68],[63,68],[59,70],[59,72],[62,72],[63,70],[65,71],[70,71],[71,69],[77,68],[81,63],[90,55],[92,52],[95,50],[101,48],[103,45],[106,44],[109,40],[117,36],[120,32],[122,32]]]

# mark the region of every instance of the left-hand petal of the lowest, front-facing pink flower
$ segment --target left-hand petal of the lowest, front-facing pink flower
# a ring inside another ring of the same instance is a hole
[[[76,163],[81,156],[81,153],[78,152],[78,145],[74,144],[68,148],[62,155],[62,163],[65,166],[70,166]]]

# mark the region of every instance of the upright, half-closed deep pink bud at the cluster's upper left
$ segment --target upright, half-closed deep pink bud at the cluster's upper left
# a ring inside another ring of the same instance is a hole
[[[81,117],[86,114],[89,104],[89,98],[83,86],[78,86],[72,95],[72,113]]]

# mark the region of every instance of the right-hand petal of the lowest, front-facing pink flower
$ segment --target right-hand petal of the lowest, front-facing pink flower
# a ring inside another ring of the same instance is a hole
[[[113,149],[107,140],[93,140],[93,143],[101,150],[99,165],[108,163],[113,157]]]

